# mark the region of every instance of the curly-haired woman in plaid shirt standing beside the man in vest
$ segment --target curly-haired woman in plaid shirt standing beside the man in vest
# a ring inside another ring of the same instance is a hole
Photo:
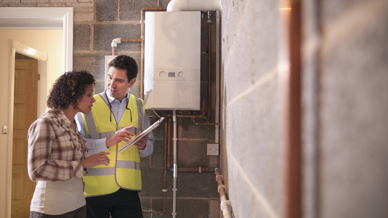
[[[92,109],[95,80],[86,71],[71,71],[52,86],[45,113],[28,130],[28,175],[38,181],[30,218],[85,218],[82,176],[87,168],[108,166],[109,152],[87,156],[76,128],[78,112]]]

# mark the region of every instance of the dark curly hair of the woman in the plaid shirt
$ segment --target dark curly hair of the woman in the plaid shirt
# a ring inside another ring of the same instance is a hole
[[[69,71],[62,74],[52,85],[47,107],[66,109],[71,105],[74,110],[78,109],[77,101],[85,96],[85,88],[91,84],[95,87],[94,77],[87,71]]]

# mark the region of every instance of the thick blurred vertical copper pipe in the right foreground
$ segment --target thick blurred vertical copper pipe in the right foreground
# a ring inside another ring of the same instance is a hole
[[[301,217],[301,2],[291,1],[288,19],[289,90],[286,117],[286,218]]]

